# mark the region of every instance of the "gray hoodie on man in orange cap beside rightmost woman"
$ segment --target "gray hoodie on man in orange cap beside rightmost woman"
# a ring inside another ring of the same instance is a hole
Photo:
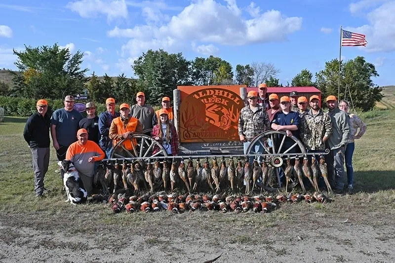
[[[330,150],[335,150],[341,146],[346,146],[350,141],[350,116],[339,108],[330,110],[328,113],[333,127],[333,133],[328,138],[328,144]]]

